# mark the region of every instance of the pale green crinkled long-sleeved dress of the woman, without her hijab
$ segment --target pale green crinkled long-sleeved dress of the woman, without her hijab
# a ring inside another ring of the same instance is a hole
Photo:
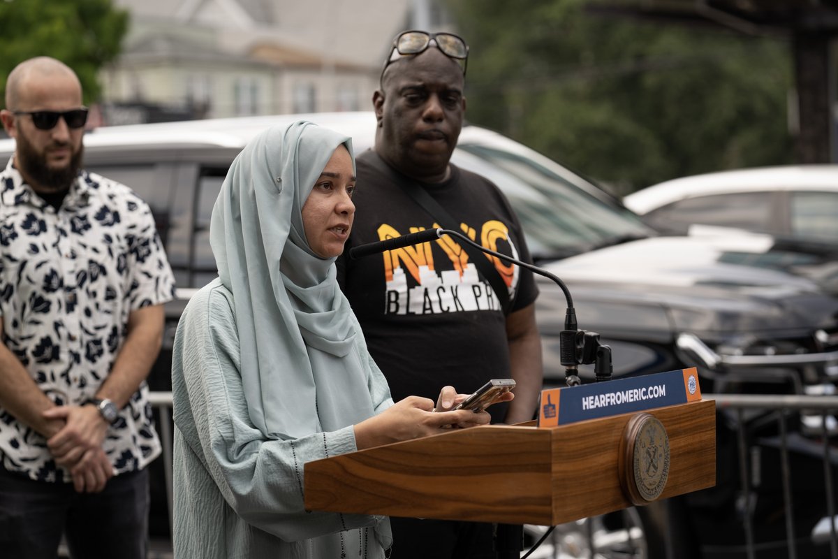
[[[175,338],[175,557],[338,559],[341,544],[349,558],[383,557],[391,541],[382,517],[303,510],[303,463],[354,451],[353,428],[268,441],[252,425],[230,299],[218,280],[201,289]],[[390,390],[363,339],[352,353],[370,364],[369,400],[383,411]]]

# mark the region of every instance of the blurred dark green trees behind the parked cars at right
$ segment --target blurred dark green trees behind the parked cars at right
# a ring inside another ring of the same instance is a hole
[[[470,47],[469,121],[623,194],[687,174],[789,163],[789,44],[588,6],[448,0]]]

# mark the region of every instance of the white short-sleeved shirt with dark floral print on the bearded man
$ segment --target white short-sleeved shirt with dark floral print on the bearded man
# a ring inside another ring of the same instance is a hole
[[[84,404],[111,371],[129,314],[166,303],[174,277],[148,205],[123,184],[81,171],[58,211],[9,160],[0,172],[3,343],[49,399]],[[160,453],[142,382],[103,448],[116,474]],[[68,482],[44,437],[0,406],[0,460],[10,472]]]

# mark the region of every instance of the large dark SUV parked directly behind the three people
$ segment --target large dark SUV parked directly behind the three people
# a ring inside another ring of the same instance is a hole
[[[191,290],[215,277],[209,216],[227,168],[256,132],[297,118],[348,134],[356,153],[374,141],[370,112],[103,127],[85,135],[85,167],[130,185],[151,205],[178,281],[178,300],[167,306],[163,352],[149,378],[154,391],[170,388],[173,333]],[[11,140],[0,140],[0,159],[12,151]],[[613,348],[615,377],[697,366],[705,392],[801,394],[832,386],[838,372],[838,300],[806,277],[752,266],[771,259],[770,243],[658,236],[594,184],[480,127],[463,128],[453,162],[484,174],[504,191],[537,263],[570,288],[580,328],[601,334]],[[555,284],[537,279],[546,385],[561,386],[559,333],[566,300]],[[799,365],[802,354],[810,355],[805,365]],[[593,379],[591,366],[580,371],[583,380]],[[718,422],[720,468],[737,459],[725,446],[735,440],[736,427],[729,418]],[[756,440],[758,425],[747,427],[748,440]],[[685,533],[696,533],[696,519],[708,510],[735,510],[742,494],[736,479],[720,469],[718,488],[685,504],[677,519]],[[752,490],[762,490],[760,498],[773,496],[766,488]],[[609,535],[603,541],[610,541],[598,551],[662,556],[663,527],[652,509],[597,520]],[[158,510],[156,517],[153,531],[168,531],[165,511]],[[770,517],[759,521],[777,523]],[[696,533],[701,549],[729,551],[716,545],[724,535],[733,551],[741,551],[741,542],[727,537],[734,528],[727,517],[715,531],[701,525]],[[806,540],[811,525],[798,528]],[[768,536],[784,540],[783,526]],[[683,544],[699,549],[695,541]]]

